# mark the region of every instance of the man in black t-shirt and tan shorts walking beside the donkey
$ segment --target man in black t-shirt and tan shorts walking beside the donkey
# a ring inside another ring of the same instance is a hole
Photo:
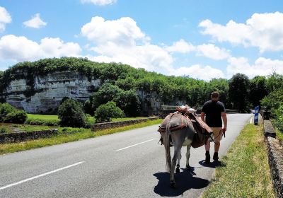
[[[202,121],[206,122],[213,130],[213,138],[215,141],[213,159],[214,161],[217,161],[222,134],[226,132],[227,129],[227,117],[224,104],[219,101],[219,93],[216,91],[212,92],[211,98],[212,100],[204,103],[200,116]],[[222,127],[222,120],[224,122],[224,127]],[[207,144],[205,145],[205,163],[210,163],[209,149],[210,141],[208,139]]]

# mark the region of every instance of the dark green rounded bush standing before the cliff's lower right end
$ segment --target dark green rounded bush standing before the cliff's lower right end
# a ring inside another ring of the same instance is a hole
[[[58,117],[62,127],[84,127],[86,125],[83,106],[73,99],[67,99],[59,106]]]

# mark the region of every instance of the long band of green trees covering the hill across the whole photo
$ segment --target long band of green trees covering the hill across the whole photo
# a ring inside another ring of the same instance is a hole
[[[235,74],[231,79],[203,81],[190,76],[164,76],[126,64],[98,63],[75,57],[21,62],[1,71],[0,95],[8,83],[25,78],[28,88],[23,94],[30,97],[36,93],[35,76],[45,76],[55,71],[76,71],[87,76],[89,81],[100,80],[100,88],[93,88],[91,97],[83,104],[84,111],[91,115],[95,115],[100,105],[110,102],[110,106],[115,104],[126,116],[139,115],[142,98],[139,98],[137,91],[157,93],[164,105],[174,105],[179,100],[197,107],[209,100],[210,93],[218,91],[226,108],[238,112],[250,112],[250,109],[262,103],[261,106],[272,110],[272,115],[278,115],[277,111],[282,106],[283,77],[276,73],[251,79],[245,74]]]

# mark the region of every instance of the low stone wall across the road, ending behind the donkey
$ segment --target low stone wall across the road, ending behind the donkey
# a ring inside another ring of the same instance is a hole
[[[98,130],[110,129],[114,127],[124,127],[130,124],[146,122],[147,120],[157,120],[159,118],[161,117],[147,117],[147,118],[142,118],[142,119],[137,119],[137,120],[126,120],[126,121],[120,121],[120,122],[103,122],[103,123],[98,123],[98,124],[92,124],[91,130],[93,132],[96,132]]]

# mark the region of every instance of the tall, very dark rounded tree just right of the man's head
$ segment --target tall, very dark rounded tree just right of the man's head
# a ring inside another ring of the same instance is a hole
[[[229,98],[238,112],[248,112],[250,81],[245,74],[235,74],[229,81]]]

